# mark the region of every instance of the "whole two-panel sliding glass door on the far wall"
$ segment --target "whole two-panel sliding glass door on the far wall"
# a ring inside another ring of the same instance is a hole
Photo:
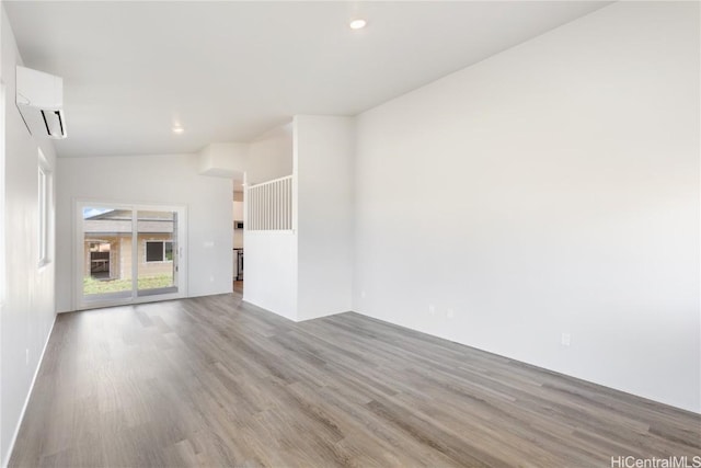
[[[77,309],[185,296],[185,208],[78,203]]]

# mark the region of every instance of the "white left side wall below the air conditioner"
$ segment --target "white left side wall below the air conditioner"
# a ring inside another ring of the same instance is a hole
[[[4,121],[1,141],[7,247],[1,265],[7,281],[0,288],[4,290],[4,298],[0,298],[0,466],[4,466],[56,316],[55,262],[38,267],[38,148],[50,169],[56,158],[49,140],[30,135],[14,105],[15,65],[22,65],[22,59],[4,8],[1,21],[0,79],[5,84],[7,100],[4,118],[0,119]],[[51,206],[51,218],[53,212]],[[53,229],[50,232],[48,253],[53,258]]]

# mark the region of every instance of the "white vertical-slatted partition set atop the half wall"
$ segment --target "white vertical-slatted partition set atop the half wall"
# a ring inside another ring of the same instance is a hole
[[[292,176],[275,179],[246,189],[248,221],[251,231],[292,229]]]

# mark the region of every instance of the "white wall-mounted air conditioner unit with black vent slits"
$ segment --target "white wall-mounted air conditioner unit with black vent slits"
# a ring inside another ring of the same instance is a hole
[[[64,80],[20,66],[16,79],[18,109],[30,133],[37,137],[66,138]]]

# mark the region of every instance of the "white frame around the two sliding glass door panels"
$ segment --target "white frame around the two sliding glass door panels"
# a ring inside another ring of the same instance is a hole
[[[138,242],[137,222],[133,217],[131,227],[131,296],[128,298],[117,298],[105,300],[85,301],[83,296],[83,218],[84,207],[105,206],[115,209],[130,209],[133,215],[137,212],[176,212],[177,213],[177,292],[154,295],[138,295]],[[159,300],[181,299],[187,297],[187,206],[186,205],[161,205],[128,202],[107,202],[104,199],[74,199],[73,201],[73,310],[97,309],[101,307],[127,306],[131,304],[156,303]]]

